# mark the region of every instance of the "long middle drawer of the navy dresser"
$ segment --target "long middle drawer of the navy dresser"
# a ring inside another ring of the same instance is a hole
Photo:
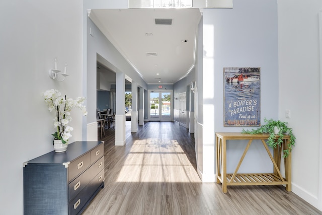
[[[88,170],[82,175],[75,178],[68,184],[68,201],[71,201],[78,193],[80,193],[90,181],[93,180],[99,172],[104,169],[104,157],[93,164]]]

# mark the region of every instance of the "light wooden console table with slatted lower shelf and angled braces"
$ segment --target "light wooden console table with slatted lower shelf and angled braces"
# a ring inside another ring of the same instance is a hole
[[[227,186],[237,185],[280,185],[285,184],[286,190],[291,191],[291,152],[287,158],[284,158],[285,178],[282,177],[280,172],[281,156],[283,150],[287,149],[289,135],[284,135],[283,143],[281,147],[277,147],[273,150],[273,156],[269,151],[269,148],[265,140],[269,137],[268,134],[247,134],[238,132],[226,132],[216,133],[216,177],[217,184],[222,184],[222,192],[227,192]],[[226,172],[226,140],[249,140],[248,145],[241,156],[239,163],[232,174]],[[273,165],[273,173],[251,173],[251,174],[238,174],[238,169],[243,162],[244,157],[252,144],[254,139],[260,139],[265,147]]]

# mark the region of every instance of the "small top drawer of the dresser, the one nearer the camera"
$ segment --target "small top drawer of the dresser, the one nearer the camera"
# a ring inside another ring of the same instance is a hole
[[[68,166],[68,181],[81,174],[90,166],[90,152],[72,161]]]

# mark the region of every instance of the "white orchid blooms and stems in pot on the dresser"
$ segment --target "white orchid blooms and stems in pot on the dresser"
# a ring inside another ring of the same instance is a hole
[[[86,107],[83,105],[85,97],[77,97],[75,100],[67,98],[66,96],[61,96],[58,90],[47,90],[43,93],[45,97],[45,102],[48,105],[48,110],[52,112],[55,110],[54,127],[57,131],[53,135],[54,139],[61,139],[63,144],[66,144],[68,139],[71,137],[70,131],[73,130],[72,127],[68,125],[71,121],[70,111],[74,107],[78,107],[82,110],[83,115],[87,115]]]

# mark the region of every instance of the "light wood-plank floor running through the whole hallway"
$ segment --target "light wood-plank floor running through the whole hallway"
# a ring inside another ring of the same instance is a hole
[[[114,146],[106,129],[105,187],[83,214],[322,214],[283,186],[201,183],[193,136],[175,122],[147,122]]]

